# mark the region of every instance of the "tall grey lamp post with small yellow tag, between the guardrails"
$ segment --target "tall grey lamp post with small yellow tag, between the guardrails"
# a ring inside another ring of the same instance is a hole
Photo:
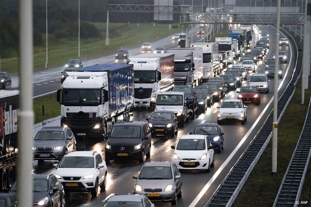
[[[275,33],[275,64],[274,64],[274,98],[273,98],[273,122],[272,122],[272,176],[277,173],[277,88],[279,72],[279,46],[280,46],[280,12],[281,0],[277,0],[276,7],[276,33]]]

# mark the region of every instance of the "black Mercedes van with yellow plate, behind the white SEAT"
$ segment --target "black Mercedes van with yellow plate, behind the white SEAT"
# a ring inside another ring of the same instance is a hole
[[[105,148],[105,161],[138,160],[150,157],[151,131],[148,122],[121,121],[112,126]]]

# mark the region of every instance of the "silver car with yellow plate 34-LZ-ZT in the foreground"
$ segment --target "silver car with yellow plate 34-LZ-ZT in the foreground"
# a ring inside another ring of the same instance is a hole
[[[177,205],[182,196],[181,174],[172,162],[147,162],[133,178],[137,179],[133,194],[146,195],[151,201]]]

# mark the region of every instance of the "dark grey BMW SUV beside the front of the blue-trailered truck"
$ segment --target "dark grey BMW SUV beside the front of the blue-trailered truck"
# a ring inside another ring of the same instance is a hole
[[[76,151],[76,138],[69,127],[43,127],[36,134],[32,150],[34,160],[61,160],[68,152]]]

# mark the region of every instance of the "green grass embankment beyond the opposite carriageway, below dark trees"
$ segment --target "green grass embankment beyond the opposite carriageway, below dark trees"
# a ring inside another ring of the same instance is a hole
[[[136,24],[109,23],[110,45],[106,46],[106,23],[94,23],[94,25],[100,29],[102,38],[80,38],[80,59],[82,62],[112,54],[121,47],[137,47],[143,42],[152,42],[157,38],[180,32],[180,28],[169,29],[168,24],[156,24],[153,27],[153,24],[137,26]],[[34,71],[45,69],[45,48],[45,46],[34,48]],[[63,66],[69,59],[74,58],[78,58],[78,38],[60,39],[57,42],[49,42],[48,38],[48,68]],[[18,57],[1,59],[1,70],[7,71],[11,75],[17,75],[18,61]]]

